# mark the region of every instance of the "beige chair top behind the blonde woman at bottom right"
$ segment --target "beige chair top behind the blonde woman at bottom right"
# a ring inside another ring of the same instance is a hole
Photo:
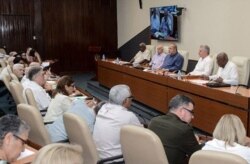
[[[190,160],[189,164],[247,164],[247,161],[242,157],[225,152],[211,151],[211,150],[199,150],[195,152]]]

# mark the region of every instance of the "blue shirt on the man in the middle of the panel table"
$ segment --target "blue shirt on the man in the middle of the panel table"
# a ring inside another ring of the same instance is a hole
[[[168,54],[163,62],[161,68],[168,69],[171,72],[181,70],[184,58],[178,52],[174,55]]]

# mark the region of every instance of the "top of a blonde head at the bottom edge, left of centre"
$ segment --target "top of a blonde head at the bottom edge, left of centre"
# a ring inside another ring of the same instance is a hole
[[[79,145],[56,143],[39,150],[32,164],[83,164],[82,148]]]

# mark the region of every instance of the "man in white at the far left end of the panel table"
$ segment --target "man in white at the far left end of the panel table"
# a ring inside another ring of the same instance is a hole
[[[142,64],[149,62],[151,59],[149,50],[146,49],[145,43],[140,43],[140,51],[130,60],[130,63]]]

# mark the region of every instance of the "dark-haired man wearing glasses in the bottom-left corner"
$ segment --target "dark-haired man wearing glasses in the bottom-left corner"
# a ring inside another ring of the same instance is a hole
[[[17,160],[25,149],[29,130],[29,125],[16,115],[5,115],[0,118],[0,163]]]

